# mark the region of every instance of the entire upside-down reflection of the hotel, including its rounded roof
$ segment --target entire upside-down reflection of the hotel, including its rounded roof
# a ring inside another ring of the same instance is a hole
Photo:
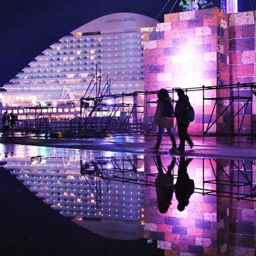
[[[4,167],[30,191],[79,225],[95,232],[95,226],[102,225],[103,221],[104,225],[115,221],[117,226],[118,223],[126,225],[123,238],[142,237],[143,160],[122,156],[92,158],[90,154],[81,162],[76,157],[42,156],[19,159],[13,156],[6,160]],[[132,233],[126,230],[131,226]],[[111,225],[103,230],[101,227],[98,233],[112,238],[120,235]]]

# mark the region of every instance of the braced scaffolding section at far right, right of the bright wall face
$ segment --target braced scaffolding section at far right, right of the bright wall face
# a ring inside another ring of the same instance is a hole
[[[253,102],[255,104],[255,83],[237,83],[234,85],[222,85],[218,87],[203,86],[203,134],[214,135],[242,135],[250,130],[253,135],[255,119],[253,119]],[[206,91],[215,90],[216,95],[207,97]],[[207,101],[212,109],[205,113]],[[246,124],[247,123],[247,124]],[[206,126],[205,126],[206,124]],[[248,125],[249,124],[249,125]],[[216,131],[210,132],[212,126],[216,125]]]

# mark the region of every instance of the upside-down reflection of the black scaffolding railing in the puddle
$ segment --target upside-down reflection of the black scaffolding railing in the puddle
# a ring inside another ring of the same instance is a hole
[[[81,162],[81,174],[97,182],[104,180],[109,186],[108,188],[111,187],[111,181],[155,187],[155,179],[158,176],[157,162],[155,161],[155,172],[149,171],[149,168],[146,168],[142,173],[138,172],[138,161],[139,159],[136,156],[131,158],[128,155],[119,158],[98,158],[89,163]],[[203,195],[209,194],[212,196],[233,198],[236,200],[256,201],[256,182],[253,182],[253,165],[255,165],[255,162],[248,162],[246,160],[229,161],[227,166],[230,171],[226,171],[225,168],[218,163],[218,160],[214,158],[203,158],[201,167],[203,169],[202,186],[195,187],[194,192]],[[214,167],[214,164],[216,164],[216,167]],[[179,161],[171,168],[171,174],[175,179],[178,176],[178,166]],[[209,166],[212,167],[214,179],[207,180],[205,168],[208,169]],[[167,173],[164,166],[162,166],[162,168]],[[207,184],[209,184],[209,186],[207,186]],[[94,183],[94,185],[96,189],[94,196],[96,200],[100,201],[101,194],[99,193],[99,184]],[[211,185],[216,185],[216,187],[213,188]],[[90,189],[94,191],[94,188],[91,186]]]

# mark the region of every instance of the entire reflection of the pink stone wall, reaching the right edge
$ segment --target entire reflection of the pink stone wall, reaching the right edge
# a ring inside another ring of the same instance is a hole
[[[162,157],[162,164],[167,167],[170,158]],[[158,248],[166,250],[166,256],[182,253],[255,255],[256,203],[237,200],[239,191],[240,197],[251,194],[250,185],[246,185],[250,183],[248,180],[255,185],[256,167],[251,164],[242,160],[193,159],[187,173],[194,180],[196,191],[182,212],[177,210],[178,202],[173,194],[167,213],[160,214],[155,187],[147,187],[144,191],[144,237],[157,240]],[[243,170],[243,165],[247,171]],[[240,176],[237,166],[242,171]],[[145,167],[148,180],[154,181],[157,169],[152,157],[146,158]],[[237,182],[243,185],[237,187]]]

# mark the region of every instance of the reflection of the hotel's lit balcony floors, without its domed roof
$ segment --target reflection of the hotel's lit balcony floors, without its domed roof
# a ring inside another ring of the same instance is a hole
[[[33,157],[24,159],[21,165],[8,164],[8,169],[24,180],[30,190],[37,193],[46,203],[71,218],[107,218],[140,220],[142,215],[142,185],[140,182],[122,183],[107,180],[120,176],[114,171],[115,164],[123,165],[124,179],[142,179],[143,172],[133,175],[132,166],[122,157],[88,161],[87,173],[81,174],[80,161],[66,158]],[[66,163],[65,163],[66,162]],[[73,162],[73,163],[71,163]],[[103,179],[97,175],[96,167],[101,168]],[[21,168],[21,170],[19,170]],[[93,176],[92,176],[93,175]],[[117,180],[116,178],[116,180]]]

